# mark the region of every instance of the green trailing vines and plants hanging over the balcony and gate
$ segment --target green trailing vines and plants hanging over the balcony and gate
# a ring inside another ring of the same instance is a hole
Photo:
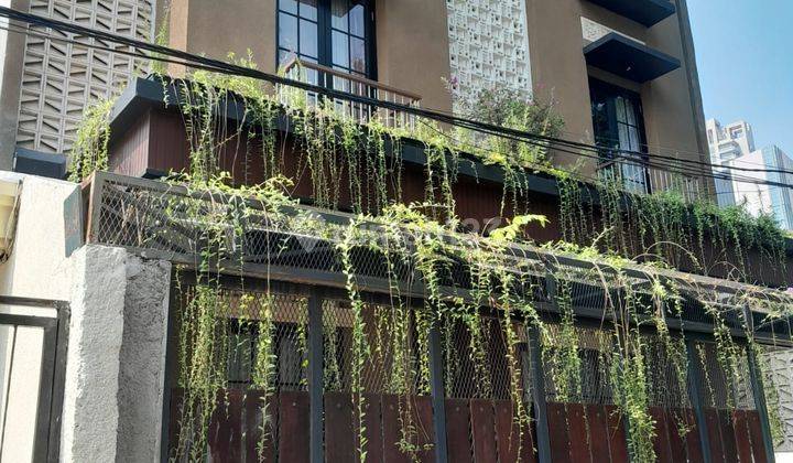
[[[256,67],[250,55],[241,60],[231,55],[230,60]],[[465,130],[449,133],[421,119],[411,131],[388,128],[377,120],[360,123],[337,111],[334,101],[311,103],[305,93],[289,89],[279,89],[276,95],[272,88],[246,77],[196,72],[191,80],[166,82],[164,86],[176,89],[176,104],[184,117],[189,144],[187,171],[174,173],[170,181],[186,185],[191,193],[186,205],[169,205],[164,213],[170,215],[177,208],[186,208],[191,220],[202,229],[200,236],[191,241],[192,250],[198,256],[197,283],[192,291],[178,291],[185,299],[178,351],[182,366],[178,384],[185,390],[185,407],[177,453],[191,461],[205,459],[217,395],[228,386],[226,362],[231,337],[225,326],[232,315],[240,327],[254,326],[260,333],[253,346],[256,362],[251,380],[265,396],[261,428],[267,431],[272,426],[267,410],[267,397],[274,394],[276,365],[272,299],[268,294],[253,300],[242,290],[232,304],[220,282],[221,274],[233,273],[246,263],[241,260],[245,256],[241,249],[246,246],[248,218],[254,211],[265,212],[273,223],[287,223],[303,235],[328,239],[340,256],[352,316],[351,356],[348,366],[340,365],[336,354],[341,346],[335,340],[326,341],[324,380],[329,388],[338,387],[341,369],[349,368],[352,422],[361,461],[369,451],[363,378],[367,363],[372,359],[393,364],[385,390],[405,396],[399,402],[400,448],[414,460],[419,452],[430,449],[431,444],[421,439],[415,405],[406,397],[428,392],[428,333],[433,329],[444,333],[446,380],[450,381],[460,355],[465,355],[476,373],[477,394],[492,396],[495,385],[488,368],[492,360],[488,347],[492,333],[487,327],[482,308],[491,308],[499,316],[498,335],[504,346],[509,397],[515,406],[512,418],[519,432],[525,432],[530,424],[521,377],[521,330],[531,326],[540,333],[543,363],[551,372],[556,398],[579,400],[582,352],[586,346],[576,323],[573,287],[580,281],[604,290],[604,313],[615,320],[613,326],[602,326],[607,335],[598,341],[598,355],[608,369],[604,376],[608,376],[617,406],[628,419],[631,455],[637,461],[654,461],[655,431],[649,414],[651,363],[640,329],[655,330],[673,366],[674,381],[682,389],[687,387],[685,333],[681,338],[673,338],[665,321],[669,314],[682,312],[681,289],[664,279],[650,277],[649,288],[633,288],[634,280],[627,276],[626,269],[638,268],[651,276],[658,269],[691,265],[698,258],[704,261],[704,245],[710,241],[718,243],[723,249],[729,248],[730,257],[741,267],[752,249],[760,250],[773,262],[780,262],[784,256],[784,235],[770,217],[754,218],[742,208],[721,209],[711,203],[689,204],[674,192],[636,196],[627,194],[613,179],[589,187],[578,175],[552,169],[544,159],[546,144],[482,137]],[[233,123],[227,117],[231,107],[242,110],[241,120]],[[107,168],[111,108],[112,101],[105,101],[87,110],[73,152],[74,180],[85,177],[95,169]],[[485,91],[479,100],[464,103],[463,108],[467,116],[478,120],[551,137],[563,126],[553,112],[553,105],[508,90]],[[281,155],[290,148],[278,130],[283,118],[291,125],[291,148],[301,153],[292,170],[287,170]],[[411,142],[409,139],[417,140],[424,148],[426,177],[424,201],[406,205],[402,198],[403,166],[399,153],[403,143]],[[238,152],[232,149],[237,147],[243,147],[245,160],[229,166],[224,154],[229,150]],[[397,155],[391,155],[389,150]],[[463,152],[484,163],[500,165],[504,171],[502,209],[510,204],[517,214],[509,225],[489,236],[458,233],[460,223],[455,215],[453,186],[460,162],[466,162]],[[258,172],[247,164],[252,159],[261,161],[264,180],[259,184],[252,181]],[[515,263],[525,257],[520,246],[531,243],[524,227],[547,223],[545,216],[520,214],[521,197],[529,191],[526,172],[530,171],[542,171],[558,180],[558,225],[564,241],[548,244],[545,250],[551,256],[572,255],[594,262],[590,271],[574,273],[553,262],[541,262],[536,267]],[[332,226],[307,215],[287,214],[286,211],[297,204],[291,197],[294,183],[302,180],[297,177],[293,182],[285,176],[287,172],[308,173],[312,196],[319,207],[338,208],[340,190],[346,186],[355,218],[347,226]],[[591,204],[595,197],[597,207]],[[599,215],[594,218],[596,209]],[[638,243],[632,236],[638,237]],[[694,245],[698,245],[699,256],[689,250]],[[359,281],[356,260],[365,250],[382,258],[388,274],[389,310],[372,309],[365,302],[366,288]],[[450,276],[460,265],[471,287],[465,298],[449,288]],[[415,281],[411,278],[409,286],[422,291],[423,303],[419,308],[414,306],[413,295],[402,293],[405,268],[415,271]],[[548,301],[558,310],[560,320],[553,325],[544,323],[534,306],[532,294],[537,289],[533,278],[537,274],[556,283],[555,297]],[[708,300],[705,295],[700,299]],[[250,309],[253,302],[260,308],[257,314]],[[741,349],[732,338],[724,310],[717,304],[705,306],[716,321],[714,336],[721,368],[728,377],[735,377],[742,365]],[[790,309],[782,312],[787,313]],[[330,326],[332,321],[325,319],[323,324]],[[449,341],[455,330],[465,331],[467,345],[458,346]],[[298,344],[304,353],[306,332],[302,325]],[[305,362],[303,367],[307,367]],[[705,379],[710,387],[710,378]],[[447,387],[450,387],[448,383]],[[686,423],[680,422],[678,427],[685,430]],[[269,434],[262,432],[265,438]],[[260,452],[263,445],[264,442],[258,444]]]

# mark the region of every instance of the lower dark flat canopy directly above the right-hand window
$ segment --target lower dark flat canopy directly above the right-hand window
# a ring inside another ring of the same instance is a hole
[[[643,84],[681,67],[674,56],[611,32],[584,47],[588,65]]]

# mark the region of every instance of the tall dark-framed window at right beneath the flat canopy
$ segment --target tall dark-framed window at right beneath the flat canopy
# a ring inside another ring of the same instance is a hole
[[[589,89],[600,175],[617,179],[628,191],[649,193],[641,98],[595,79],[590,79]]]

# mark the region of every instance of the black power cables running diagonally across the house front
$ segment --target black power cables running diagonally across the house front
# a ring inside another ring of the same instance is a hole
[[[182,52],[182,51],[165,47],[162,45],[151,44],[148,42],[135,40],[135,39],[120,36],[117,34],[109,33],[109,32],[96,31],[96,30],[91,30],[91,29],[84,28],[84,26],[76,25],[76,24],[69,24],[66,22],[57,21],[57,20],[42,18],[42,17],[37,17],[35,14],[15,11],[13,9],[6,8],[6,7],[0,7],[0,17],[7,17],[10,20],[25,22],[25,23],[32,24],[32,25],[55,29],[61,32],[68,32],[68,33],[85,35],[85,36],[99,39],[99,40],[104,40],[104,41],[108,41],[108,42],[121,43],[124,45],[129,45],[133,49],[149,51],[150,53],[154,53],[154,55],[146,55],[146,54],[134,53],[134,52],[124,52],[124,51],[112,50],[109,47],[104,47],[104,46],[99,46],[99,45],[95,45],[95,44],[85,44],[83,42],[69,41],[72,43],[77,43],[83,46],[89,46],[89,47],[93,46],[93,47],[97,47],[97,49],[101,49],[101,50],[107,50],[107,51],[110,51],[113,53],[121,53],[121,54],[142,57],[142,58],[146,58],[146,60],[178,64],[178,65],[184,65],[184,66],[192,67],[192,68],[199,68],[199,69],[216,72],[216,73],[220,73],[220,74],[236,75],[236,76],[241,76],[241,77],[250,77],[250,78],[254,78],[254,79],[259,79],[259,80],[270,82],[270,83],[276,84],[276,85],[291,86],[291,87],[301,88],[301,89],[304,89],[307,91],[317,93],[317,94],[321,94],[321,95],[324,95],[324,96],[327,96],[327,97],[334,98],[334,99],[348,100],[348,101],[352,101],[352,103],[359,103],[359,104],[363,104],[363,105],[376,106],[376,107],[391,109],[391,110],[395,110],[395,111],[412,114],[414,116],[420,116],[420,117],[424,117],[427,119],[433,119],[436,121],[449,123],[455,127],[468,128],[471,130],[476,130],[476,131],[487,133],[487,134],[492,134],[496,137],[512,139],[515,141],[530,142],[530,143],[531,142],[534,142],[534,143],[540,142],[540,143],[544,143],[543,146],[545,146],[545,147],[547,147],[548,144],[553,144],[554,150],[557,150],[561,152],[567,152],[567,153],[575,154],[575,155],[586,157],[586,155],[583,155],[582,152],[564,150],[560,147],[567,147],[571,149],[579,149],[582,151],[588,151],[591,153],[596,153],[598,160],[601,160],[600,154],[604,151],[602,147],[597,147],[597,146],[587,144],[587,143],[583,143],[583,142],[575,142],[575,141],[571,141],[571,140],[558,139],[558,138],[554,138],[554,137],[546,137],[546,136],[531,133],[531,132],[512,129],[512,128],[504,128],[504,127],[495,126],[495,125],[487,123],[487,122],[460,118],[458,116],[454,116],[450,114],[444,114],[443,111],[427,110],[427,109],[416,108],[416,107],[412,107],[412,106],[400,105],[400,104],[395,104],[395,103],[391,103],[391,101],[383,101],[383,100],[379,100],[379,99],[374,99],[374,98],[362,97],[362,96],[358,96],[358,95],[354,95],[354,94],[335,90],[333,88],[327,88],[327,87],[323,87],[323,86],[318,86],[318,85],[302,83],[298,80],[292,80],[292,79],[287,79],[287,78],[280,77],[276,75],[268,74],[268,73],[264,73],[264,72],[261,72],[258,69],[252,69],[252,68],[248,68],[248,67],[243,67],[243,66],[239,66],[239,65],[235,65],[235,64],[229,64],[229,63],[221,62],[218,60],[206,58],[204,56],[194,55],[194,54],[191,54],[187,52]],[[41,34],[39,34],[39,35],[41,35]],[[62,37],[51,37],[51,39],[68,41],[68,40],[62,39]],[[163,56],[171,56],[171,57],[175,57],[177,60],[165,58]],[[619,150],[619,153],[620,153],[619,154],[620,158],[637,159],[637,162],[641,163],[641,164],[659,166],[662,169],[676,168],[676,171],[678,173],[695,175],[695,176],[704,176],[704,177],[725,179],[725,180],[731,179],[731,177],[727,177],[727,176],[723,176],[723,175],[714,176],[713,174],[709,174],[708,172],[706,172],[704,170],[692,170],[695,168],[689,168],[688,165],[685,165],[685,168],[683,168],[683,165],[684,164],[697,164],[699,166],[710,166],[710,168],[717,166],[717,168],[721,168],[721,169],[726,168],[726,169],[748,171],[748,172],[779,172],[779,173],[793,174],[793,172],[791,172],[791,171],[753,170],[753,169],[737,168],[737,166],[726,166],[726,165],[704,163],[704,162],[694,161],[694,160],[680,160],[680,159],[675,159],[675,158],[658,155],[658,154],[652,154],[652,153],[642,153],[642,152],[630,151],[630,150]],[[649,154],[652,154],[651,155],[652,161],[650,161],[650,162],[647,159],[647,157]],[[593,159],[594,157],[588,155],[588,158]],[[767,182],[767,184],[771,184],[771,183]],[[778,184],[778,185],[790,187],[790,185],[785,185],[785,184]]]

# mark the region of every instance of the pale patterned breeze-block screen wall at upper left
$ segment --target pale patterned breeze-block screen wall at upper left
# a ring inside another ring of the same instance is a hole
[[[151,41],[154,0],[32,0],[30,12],[77,25]],[[146,71],[145,60],[44,39],[63,35],[87,45],[132,52],[126,45],[31,26],[26,37],[17,143],[65,153],[72,148],[86,101],[120,93],[130,77]]]

